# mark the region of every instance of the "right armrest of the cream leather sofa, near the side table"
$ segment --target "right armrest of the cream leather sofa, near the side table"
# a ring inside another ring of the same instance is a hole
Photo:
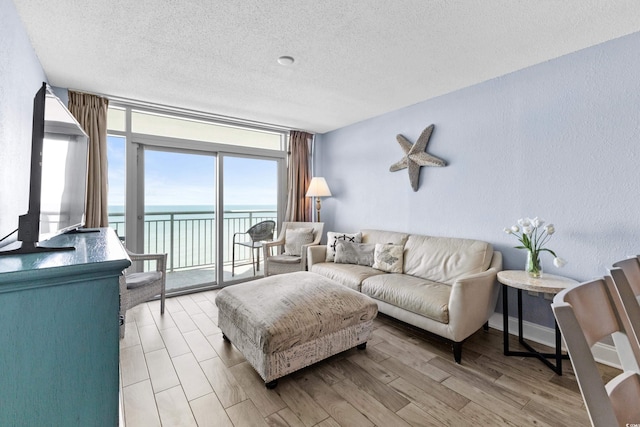
[[[460,278],[451,287],[449,327],[454,341],[462,341],[484,325],[495,311],[500,287],[498,270]]]

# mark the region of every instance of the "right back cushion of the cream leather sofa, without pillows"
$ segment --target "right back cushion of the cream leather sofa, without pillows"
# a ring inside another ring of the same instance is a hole
[[[490,243],[473,239],[410,235],[404,252],[404,273],[452,285],[456,279],[481,273],[493,257]]]

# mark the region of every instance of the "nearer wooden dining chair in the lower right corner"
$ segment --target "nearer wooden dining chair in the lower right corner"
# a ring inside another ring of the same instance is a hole
[[[626,334],[640,357],[640,343],[625,328],[611,296],[611,277],[581,283],[558,293],[551,308],[562,331],[589,418],[595,427],[624,426],[640,420],[640,374],[624,370],[607,384],[591,351],[614,333]]]

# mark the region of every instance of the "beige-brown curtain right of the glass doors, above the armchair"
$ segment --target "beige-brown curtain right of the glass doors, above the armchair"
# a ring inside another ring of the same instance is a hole
[[[305,197],[311,169],[309,153],[313,135],[307,132],[291,131],[289,134],[289,171],[287,184],[289,195],[285,221],[311,221],[311,198]]]

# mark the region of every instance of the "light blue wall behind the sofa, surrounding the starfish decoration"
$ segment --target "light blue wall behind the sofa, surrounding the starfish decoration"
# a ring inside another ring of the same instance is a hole
[[[327,231],[381,228],[482,239],[522,269],[525,253],[503,228],[523,216],[556,225],[545,271],[584,281],[640,253],[640,33],[320,135],[316,175]],[[390,76],[392,78],[392,76]],[[402,85],[401,81],[397,82]],[[413,192],[396,134],[412,142],[429,124]],[[525,319],[552,325],[549,301],[527,297]],[[501,304],[498,304],[501,311]]]

